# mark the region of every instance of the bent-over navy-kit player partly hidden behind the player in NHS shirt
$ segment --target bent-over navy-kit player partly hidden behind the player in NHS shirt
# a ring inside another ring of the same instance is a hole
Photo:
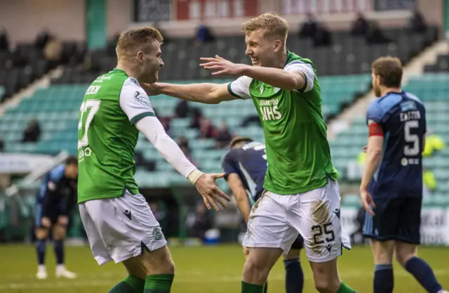
[[[248,223],[251,207],[263,192],[265,173],[267,172],[267,154],[265,145],[251,138],[236,137],[230,150],[222,158],[225,179],[236,197],[236,202],[245,223]],[[284,256],[286,268],[286,293],[300,293],[304,285],[304,275],[300,263],[300,249],[303,240],[298,236],[290,252]],[[248,248],[243,247],[243,254],[248,256]],[[267,292],[267,285],[264,287]]]

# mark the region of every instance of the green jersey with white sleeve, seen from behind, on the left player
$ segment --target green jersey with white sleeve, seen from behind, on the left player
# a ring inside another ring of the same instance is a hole
[[[95,79],[81,104],[78,124],[78,202],[138,194],[134,124],[154,110],[137,79],[114,69]]]

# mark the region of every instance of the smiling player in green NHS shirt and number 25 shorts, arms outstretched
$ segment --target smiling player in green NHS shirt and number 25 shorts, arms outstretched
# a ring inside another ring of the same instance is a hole
[[[321,92],[311,60],[286,50],[288,24],[264,13],[243,23],[246,55],[253,66],[220,56],[201,58],[213,75],[240,76],[228,84],[145,84],[150,95],[163,93],[200,103],[252,99],[264,129],[268,169],[264,193],[250,212],[243,246],[250,248],[241,292],[262,292],[282,253],[304,238],[319,292],[354,292],[337,272],[337,256],[349,238],[342,235],[338,171],[330,160]]]

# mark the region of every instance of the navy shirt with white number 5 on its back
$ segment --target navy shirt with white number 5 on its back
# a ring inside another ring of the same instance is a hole
[[[368,108],[382,126],[384,152],[369,191],[374,197],[421,197],[425,109],[411,93],[387,93]]]

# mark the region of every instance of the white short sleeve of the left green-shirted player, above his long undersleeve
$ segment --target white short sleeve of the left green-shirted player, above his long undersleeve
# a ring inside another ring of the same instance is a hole
[[[120,107],[131,124],[135,124],[143,117],[156,116],[147,93],[140,87],[137,79],[129,77],[120,92]]]

